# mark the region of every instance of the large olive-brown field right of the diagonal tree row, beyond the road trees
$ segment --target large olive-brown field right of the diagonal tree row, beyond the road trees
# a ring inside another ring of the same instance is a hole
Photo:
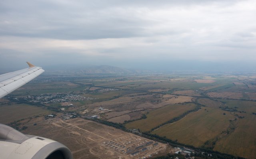
[[[234,116],[216,108],[200,109],[192,112],[178,122],[166,124],[152,133],[166,136],[169,139],[188,145],[202,146],[204,142],[225,131]]]

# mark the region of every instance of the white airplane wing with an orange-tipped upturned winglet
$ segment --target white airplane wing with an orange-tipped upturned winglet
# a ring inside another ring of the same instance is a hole
[[[29,68],[0,75],[0,98],[38,77],[44,70],[27,62]]]

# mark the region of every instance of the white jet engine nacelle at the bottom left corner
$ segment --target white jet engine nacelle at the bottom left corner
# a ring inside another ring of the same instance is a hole
[[[0,154],[1,159],[73,159],[62,143],[24,135],[4,124],[0,124]]]

